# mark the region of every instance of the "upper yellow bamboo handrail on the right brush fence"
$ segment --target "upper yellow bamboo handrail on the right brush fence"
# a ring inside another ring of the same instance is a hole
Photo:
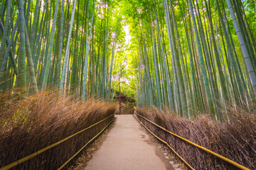
[[[136,115],[139,115],[136,111],[134,111],[134,112],[136,113]],[[211,150],[209,150],[209,149],[206,149],[205,147],[201,147],[200,145],[197,145],[197,144],[195,144],[195,143],[193,143],[193,142],[191,142],[191,141],[189,141],[189,140],[186,140],[185,138],[183,138],[183,137],[181,137],[181,136],[179,136],[179,135],[176,135],[176,134],[173,133],[173,132],[170,132],[169,130],[166,130],[165,128],[163,128],[163,127],[157,125],[156,123],[152,122],[151,120],[148,120],[147,118],[144,118],[142,115],[139,115],[139,117],[141,117],[141,118],[143,118],[144,120],[148,121],[149,123],[155,125],[156,127],[160,128],[160,129],[162,129],[162,130],[164,130],[164,131],[166,131],[166,132],[169,132],[171,135],[174,135],[174,136],[178,137],[179,139],[181,139],[181,140],[183,140],[183,141],[186,141],[186,142],[188,142],[189,144],[191,144],[191,145],[193,145],[193,146],[195,146],[195,147],[198,147],[199,149],[202,149],[202,150],[208,152],[209,154],[213,154],[215,157],[218,157],[218,158],[222,159],[223,161],[228,162],[229,164],[232,164],[233,166],[235,166],[235,167],[237,167],[237,168],[239,168],[239,169],[242,169],[242,170],[250,170],[250,169],[248,169],[247,167],[242,166],[241,164],[238,164],[238,163],[236,163],[236,162],[233,162],[232,160],[230,160],[230,159],[228,159],[228,158],[226,158],[226,157],[223,157],[223,156],[221,156],[220,154],[217,154],[217,153],[215,153],[215,152],[213,152],[213,151],[211,151]]]

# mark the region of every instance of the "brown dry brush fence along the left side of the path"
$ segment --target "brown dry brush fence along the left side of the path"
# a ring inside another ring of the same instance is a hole
[[[117,105],[95,99],[64,98],[62,91],[43,91],[23,100],[13,93],[10,90],[0,96],[0,167],[73,135],[117,110]],[[112,118],[14,169],[58,169]]]

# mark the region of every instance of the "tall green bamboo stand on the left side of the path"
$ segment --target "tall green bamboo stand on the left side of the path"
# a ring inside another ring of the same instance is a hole
[[[16,87],[28,96],[57,87],[82,98],[97,94],[110,100],[111,77],[117,72],[115,48],[124,41],[113,5],[92,0],[1,1],[1,91]]]

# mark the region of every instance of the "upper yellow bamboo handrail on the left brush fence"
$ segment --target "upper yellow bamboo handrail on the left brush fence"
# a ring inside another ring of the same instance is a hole
[[[114,114],[112,114],[112,115],[114,115]],[[56,145],[59,145],[60,143],[65,142],[66,140],[70,139],[71,137],[74,137],[75,135],[78,135],[78,134],[80,134],[81,132],[84,132],[85,130],[90,129],[90,128],[92,128],[93,126],[95,126],[95,125],[97,125],[97,124],[99,124],[99,123],[102,123],[104,120],[107,120],[107,119],[110,118],[112,115],[108,116],[107,118],[105,118],[105,119],[103,119],[103,120],[100,120],[99,122],[97,122],[97,123],[95,123],[95,124],[93,124],[93,125],[90,125],[89,127],[85,128],[85,129],[83,129],[83,130],[80,130],[79,132],[76,132],[76,133],[73,134],[73,135],[70,135],[69,137],[65,137],[65,139],[63,139],[63,140],[60,140],[60,141],[58,141],[58,142],[55,142],[54,144],[49,145],[48,147],[45,147],[45,148],[43,148],[43,149],[40,149],[40,150],[38,150],[37,152],[34,152],[33,154],[30,154],[30,155],[28,155],[28,156],[26,156],[26,157],[23,157],[23,158],[21,158],[21,159],[18,159],[17,161],[15,161],[15,162],[13,162],[13,163],[11,163],[11,164],[8,164],[8,165],[6,165],[6,166],[4,166],[4,167],[1,167],[0,170],[11,169],[12,167],[17,166],[18,164],[21,164],[22,162],[26,162],[28,159],[31,159],[31,158],[33,158],[33,157],[36,157],[38,154],[41,154],[41,153],[45,152],[46,150],[48,150],[48,149],[50,149],[50,148],[52,148],[52,147],[55,147]]]

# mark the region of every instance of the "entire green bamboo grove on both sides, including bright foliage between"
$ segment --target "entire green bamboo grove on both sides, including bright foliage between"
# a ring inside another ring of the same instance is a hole
[[[1,0],[0,19],[0,93],[112,101],[122,83],[140,107],[216,120],[255,103],[256,1]]]

